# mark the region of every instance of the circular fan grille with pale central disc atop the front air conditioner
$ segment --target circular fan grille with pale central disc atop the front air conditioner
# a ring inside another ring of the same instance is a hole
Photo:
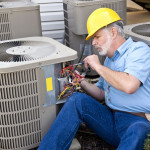
[[[39,41],[13,41],[0,45],[0,61],[4,62],[42,59],[55,52],[54,45]]]

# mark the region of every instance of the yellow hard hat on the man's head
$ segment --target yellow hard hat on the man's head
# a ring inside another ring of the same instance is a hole
[[[87,20],[88,36],[86,40],[89,40],[93,34],[115,21],[122,20],[119,15],[110,8],[99,8],[91,13]]]

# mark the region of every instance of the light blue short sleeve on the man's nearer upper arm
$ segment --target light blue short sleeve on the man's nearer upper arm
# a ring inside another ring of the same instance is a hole
[[[128,53],[124,72],[135,76],[144,84],[150,74],[150,47],[137,42]]]

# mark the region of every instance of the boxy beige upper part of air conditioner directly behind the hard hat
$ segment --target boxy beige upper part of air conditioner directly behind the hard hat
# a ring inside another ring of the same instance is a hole
[[[65,25],[77,35],[87,34],[87,19],[97,8],[115,10],[126,23],[126,0],[63,0],[63,5]]]

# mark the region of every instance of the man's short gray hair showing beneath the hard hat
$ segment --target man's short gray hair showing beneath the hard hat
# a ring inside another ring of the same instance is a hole
[[[116,21],[111,24],[109,24],[105,29],[110,30],[112,27],[115,27],[118,31],[118,35],[121,37],[125,37],[125,33],[123,31],[123,21]]]

